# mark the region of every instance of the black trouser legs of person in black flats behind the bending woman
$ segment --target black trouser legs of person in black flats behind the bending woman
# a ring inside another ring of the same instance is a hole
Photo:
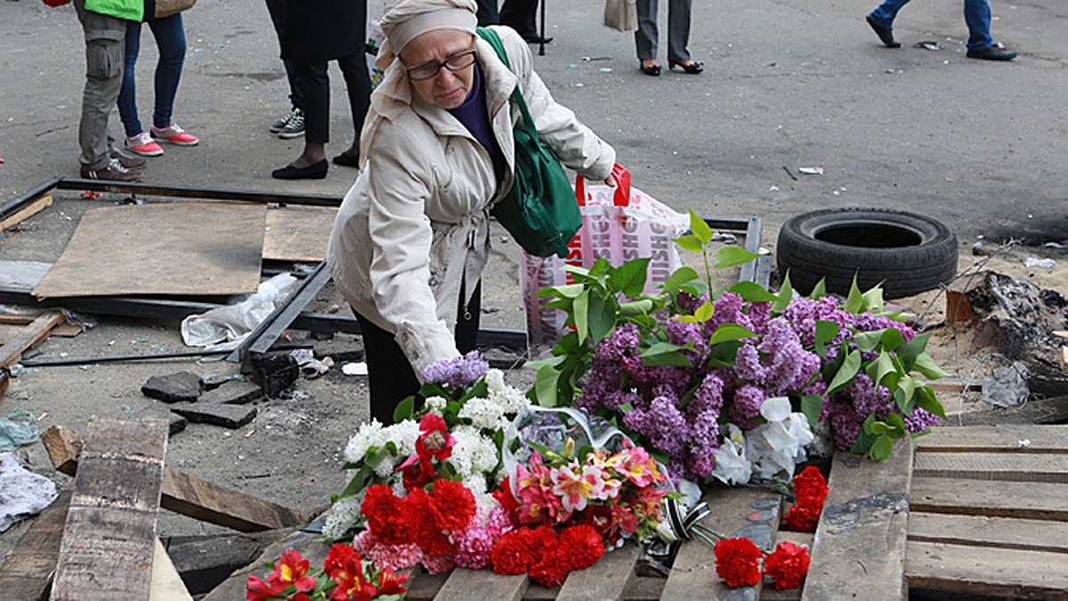
[[[321,144],[330,141],[330,77],[327,65],[327,61],[294,63],[304,92],[304,139]],[[363,48],[337,59],[337,66],[345,77],[348,104],[352,110],[352,139],[359,140],[363,119],[371,106],[371,75]]]

